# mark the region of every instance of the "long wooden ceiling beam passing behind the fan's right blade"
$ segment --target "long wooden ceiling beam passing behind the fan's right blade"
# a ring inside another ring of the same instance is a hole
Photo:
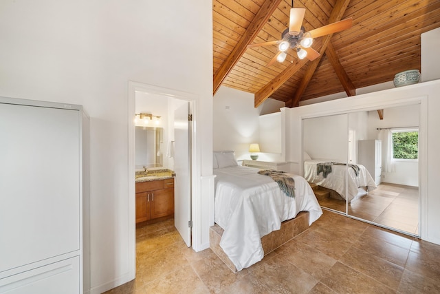
[[[349,6],[349,3],[350,3],[350,0],[338,0],[335,3],[333,10],[331,10],[331,14],[329,17],[329,23],[334,23],[336,21],[340,21],[342,19],[342,17],[344,16],[344,12],[347,9],[347,6]],[[306,70],[306,73],[303,77],[303,80],[301,80],[300,85],[296,89],[294,96],[291,99],[289,99],[289,101],[286,101],[286,107],[298,106],[298,103],[301,99],[301,96],[303,96],[305,89],[307,88],[307,85],[309,85],[309,83],[311,81],[311,77],[315,73],[316,67],[318,67],[318,64],[321,61],[322,56],[324,55],[325,51],[327,50],[327,45],[329,44],[331,36],[333,36],[333,34],[329,34],[329,35],[323,37],[322,47],[320,49],[321,56],[309,64],[309,67],[307,67],[307,70]]]

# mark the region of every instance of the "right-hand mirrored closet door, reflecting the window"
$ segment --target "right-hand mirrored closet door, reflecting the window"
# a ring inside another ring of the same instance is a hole
[[[349,114],[349,154],[369,176],[350,216],[419,235],[418,132],[418,104]]]

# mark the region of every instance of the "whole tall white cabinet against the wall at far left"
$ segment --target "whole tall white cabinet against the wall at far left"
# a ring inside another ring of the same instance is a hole
[[[83,293],[82,122],[0,97],[0,293]]]

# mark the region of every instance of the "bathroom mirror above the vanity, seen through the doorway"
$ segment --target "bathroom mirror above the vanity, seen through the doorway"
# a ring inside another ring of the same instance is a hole
[[[135,166],[163,166],[163,129],[162,127],[135,127]]]

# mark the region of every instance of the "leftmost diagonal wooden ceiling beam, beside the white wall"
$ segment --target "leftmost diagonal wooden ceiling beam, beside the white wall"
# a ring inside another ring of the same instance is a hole
[[[213,82],[213,94],[219,90],[221,83],[223,83],[224,79],[234,65],[239,61],[241,56],[244,54],[247,46],[254,41],[256,35],[263,28],[268,19],[272,16],[278,5],[281,3],[281,0],[266,0],[261,6],[259,12],[255,15],[254,19],[246,29],[243,36],[241,36],[240,41],[236,44],[235,48],[229,54],[228,58],[223,62],[219,70],[214,74],[214,82]]]

